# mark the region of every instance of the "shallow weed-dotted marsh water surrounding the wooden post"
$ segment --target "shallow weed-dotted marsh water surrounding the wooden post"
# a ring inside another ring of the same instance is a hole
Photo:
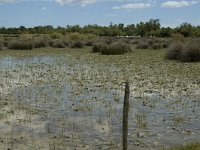
[[[127,80],[129,149],[198,141],[200,64],[141,57],[0,57],[0,149],[121,149]]]

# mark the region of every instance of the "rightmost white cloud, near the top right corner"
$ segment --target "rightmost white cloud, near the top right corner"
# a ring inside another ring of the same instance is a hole
[[[161,4],[161,7],[166,8],[181,8],[198,3],[197,1],[167,1]]]

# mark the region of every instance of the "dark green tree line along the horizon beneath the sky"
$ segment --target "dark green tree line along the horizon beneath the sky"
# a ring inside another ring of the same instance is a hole
[[[52,34],[61,33],[81,33],[94,34],[97,36],[142,36],[142,37],[170,37],[174,33],[180,33],[185,37],[200,37],[200,26],[193,26],[190,23],[182,23],[176,28],[161,27],[159,19],[150,19],[147,22],[140,22],[137,24],[124,25],[123,23],[113,24],[109,26],[100,25],[67,25],[66,27],[56,27],[51,25],[36,26],[26,28],[20,26],[17,28],[0,28],[0,34]]]

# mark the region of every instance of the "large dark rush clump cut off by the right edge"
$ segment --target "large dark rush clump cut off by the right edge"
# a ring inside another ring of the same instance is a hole
[[[200,44],[197,41],[186,43],[180,59],[184,62],[200,61]]]

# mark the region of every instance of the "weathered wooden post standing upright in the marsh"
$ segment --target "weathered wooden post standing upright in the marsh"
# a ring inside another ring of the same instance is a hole
[[[129,96],[130,96],[130,86],[129,83],[126,82],[125,95],[124,95],[124,108],[123,108],[123,150],[128,149],[127,138],[128,138]]]

